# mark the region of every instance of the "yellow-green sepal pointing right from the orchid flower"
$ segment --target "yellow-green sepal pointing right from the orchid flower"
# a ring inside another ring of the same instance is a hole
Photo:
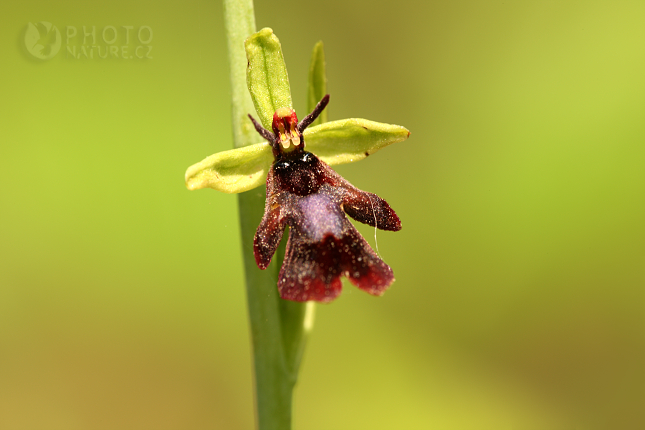
[[[304,132],[305,150],[329,165],[353,163],[410,136],[407,128],[367,119],[326,122]]]

